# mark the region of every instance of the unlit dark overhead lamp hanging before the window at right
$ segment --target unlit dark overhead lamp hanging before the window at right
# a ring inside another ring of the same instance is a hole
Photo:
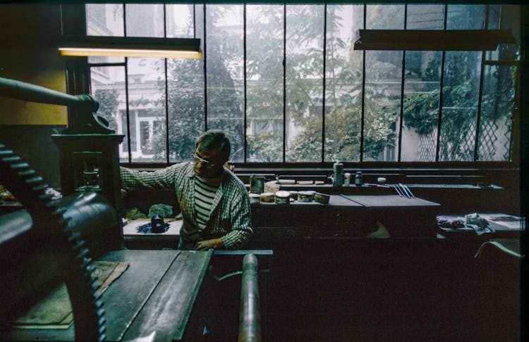
[[[509,30],[359,30],[355,50],[485,51],[516,43]]]

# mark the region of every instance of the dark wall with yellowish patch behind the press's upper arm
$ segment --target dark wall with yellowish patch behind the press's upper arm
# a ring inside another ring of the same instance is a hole
[[[61,6],[0,4],[0,23],[0,77],[65,93],[63,58],[48,45],[61,34]],[[59,187],[59,157],[49,136],[66,127],[66,118],[66,107],[0,96],[0,143]]]

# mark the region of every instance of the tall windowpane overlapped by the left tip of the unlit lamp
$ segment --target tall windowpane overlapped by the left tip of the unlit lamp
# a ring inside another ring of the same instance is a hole
[[[325,161],[359,161],[363,51],[352,50],[363,6],[327,6]]]

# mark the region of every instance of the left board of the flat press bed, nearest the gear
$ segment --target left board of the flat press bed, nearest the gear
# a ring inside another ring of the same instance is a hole
[[[113,251],[102,260],[129,263],[103,293],[107,340],[120,341],[180,251]]]

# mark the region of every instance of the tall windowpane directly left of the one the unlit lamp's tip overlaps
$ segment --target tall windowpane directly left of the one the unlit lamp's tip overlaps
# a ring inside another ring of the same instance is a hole
[[[286,6],[286,161],[322,161],[324,6]]]

